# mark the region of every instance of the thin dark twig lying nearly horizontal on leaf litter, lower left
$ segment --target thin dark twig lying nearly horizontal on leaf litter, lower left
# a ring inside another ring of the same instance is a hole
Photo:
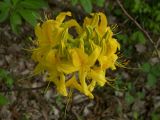
[[[39,87],[34,87],[34,88],[22,88],[22,87],[18,87],[18,88],[13,88],[13,89],[5,89],[5,90],[0,90],[0,92],[4,93],[4,92],[13,92],[13,91],[32,91],[32,90],[43,89],[45,87],[47,87],[47,84],[44,84],[44,85],[39,86]]]

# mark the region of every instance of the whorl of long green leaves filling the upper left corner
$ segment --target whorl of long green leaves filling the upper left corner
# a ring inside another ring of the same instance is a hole
[[[47,6],[43,0],[0,1],[0,23],[9,19],[13,32],[18,34],[22,20],[34,26],[37,23],[37,18],[40,18],[38,10]]]

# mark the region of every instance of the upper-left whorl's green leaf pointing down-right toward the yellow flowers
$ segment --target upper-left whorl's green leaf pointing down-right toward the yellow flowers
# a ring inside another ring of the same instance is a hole
[[[37,17],[39,16],[37,12],[22,9],[19,11],[19,13],[23,17],[23,19],[27,21],[30,25],[35,26],[37,24]]]

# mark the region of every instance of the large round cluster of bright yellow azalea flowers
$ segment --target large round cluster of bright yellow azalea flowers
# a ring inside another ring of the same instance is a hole
[[[66,16],[71,13],[62,12],[55,20],[35,27],[37,47],[32,59],[38,64],[34,73],[47,73],[47,80],[64,96],[68,88],[74,88],[93,98],[95,86],[108,82],[105,71],[115,69],[120,45],[103,13],[90,14],[82,26],[74,19],[66,20]]]

